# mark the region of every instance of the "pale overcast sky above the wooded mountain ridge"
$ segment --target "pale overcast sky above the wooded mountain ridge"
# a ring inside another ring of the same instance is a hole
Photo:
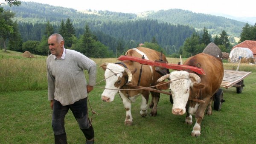
[[[3,0],[0,0],[2,2]],[[180,8],[196,13],[227,14],[234,17],[256,17],[256,0],[21,0],[74,8],[108,10],[124,13]]]

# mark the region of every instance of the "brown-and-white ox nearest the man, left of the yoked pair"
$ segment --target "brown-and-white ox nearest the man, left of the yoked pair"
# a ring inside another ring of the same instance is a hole
[[[133,48],[127,51],[127,56],[134,56],[138,58],[145,57],[147,60],[159,60],[160,53],[154,51],[149,48]],[[162,60],[166,61],[166,57],[163,55]],[[142,102],[140,105],[140,115],[145,117],[147,115],[148,109],[148,98],[149,91],[148,90],[127,90],[134,89],[130,87],[128,84],[137,85],[139,76],[140,76],[140,68],[141,64],[138,62],[133,62],[130,60],[122,61],[123,64],[120,63],[104,63],[101,67],[105,70],[105,79],[106,86],[105,90],[102,93],[102,100],[105,102],[112,102],[115,98],[116,93],[119,93],[119,96],[122,99],[126,110],[126,118],[125,124],[132,124],[132,116],[131,116],[131,102],[135,102],[136,98],[142,95]],[[127,67],[127,68],[125,68]],[[157,85],[157,79],[159,79],[161,75],[155,71],[155,67],[143,65],[142,74],[140,78],[140,86],[149,87]],[[122,89],[122,90],[118,90]],[[150,115],[157,115],[157,104],[160,98],[160,93],[150,91],[152,100],[149,105],[152,108]]]

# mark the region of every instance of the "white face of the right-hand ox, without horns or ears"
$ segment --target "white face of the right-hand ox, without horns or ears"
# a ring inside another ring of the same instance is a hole
[[[174,71],[170,74],[170,90],[172,93],[172,113],[183,115],[186,112],[186,103],[189,99],[189,89],[192,85],[189,73],[186,71]]]

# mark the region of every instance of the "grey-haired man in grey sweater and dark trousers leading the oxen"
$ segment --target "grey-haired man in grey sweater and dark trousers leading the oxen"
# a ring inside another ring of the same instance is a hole
[[[48,38],[51,55],[47,58],[48,100],[52,108],[55,144],[67,144],[64,118],[70,109],[84,133],[87,144],[93,144],[94,130],[87,114],[87,93],[96,83],[96,63],[83,54],[65,49],[60,34]],[[88,85],[84,71],[89,73]]]

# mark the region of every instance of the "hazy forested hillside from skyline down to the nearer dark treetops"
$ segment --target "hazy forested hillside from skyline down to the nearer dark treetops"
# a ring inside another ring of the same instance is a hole
[[[193,32],[206,27],[210,34],[220,34],[225,30],[230,37],[239,37],[245,23],[209,14],[198,14],[181,9],[146,11],[141,14],[113,11],[77,11],[72,8],[50,6],[35,2],[22,2],[20,6],[2,4],[6,10],[15,13],[23,42],[40,41],[47,21],[58,32],[61,20],[70,18],[76,37],[89,25],[98,40],[112,51],[118,44],[134,48],[140,43],[151,42],[154,37],[167,54],[177,53],[186,38]]]

